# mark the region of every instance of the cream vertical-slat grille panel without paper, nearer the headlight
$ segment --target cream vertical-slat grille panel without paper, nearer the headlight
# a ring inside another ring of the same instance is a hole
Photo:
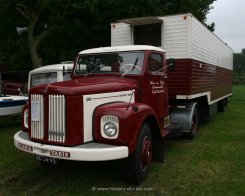
[[[49,95],[48,140],[64,143],[66,138],[65,96]]]

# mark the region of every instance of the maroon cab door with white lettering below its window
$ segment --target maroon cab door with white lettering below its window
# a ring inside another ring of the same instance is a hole
[[[147,59],[145,80],[145,102],[151,106],[159,117],[159,121],[167,118],[168,112],[168,78],[165,66],[165,54],[150,52]]]

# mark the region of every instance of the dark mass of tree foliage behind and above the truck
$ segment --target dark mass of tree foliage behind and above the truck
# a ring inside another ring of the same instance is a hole
[[[0,7],[0,16],[6,21],[0,27],[9,32],[3,38],[0,28],[0,41],[9,49],[0,48],[0,63],[8,62],[18,69],[72,60],[82,49],[110,45],[110,23],[124,18],[191,12],[205,24],[214,1],[0,0],[4,5]],[[26,46],[23,46],[26,36],[19,37],[14,32],[20,24],[29,29]]]

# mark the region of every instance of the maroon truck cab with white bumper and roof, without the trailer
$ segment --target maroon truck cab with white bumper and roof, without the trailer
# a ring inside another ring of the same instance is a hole
[[[163,161],[163,137],[173,129],[164,50],[85,50],[72,78],[30,89],[15,146],[49,162],[126,158],[130,181],[140,183],[151,161]]]

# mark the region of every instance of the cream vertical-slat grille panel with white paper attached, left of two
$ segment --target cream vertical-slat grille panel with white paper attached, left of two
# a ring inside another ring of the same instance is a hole
[[[44,138],[43,96],[31,95],[31,137]]]

